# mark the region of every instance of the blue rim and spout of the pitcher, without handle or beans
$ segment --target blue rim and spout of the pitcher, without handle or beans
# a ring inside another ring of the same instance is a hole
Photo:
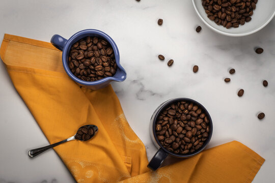
[[[118,67],[118,69],[122,70],[125,73],[124,78],[120,79],[120,78],[116,78],[114,76],[108,76],[108,77],[102,78],[102,79],[97,80],[97,81],[84,81],[84,80],[81,80],[81,79],[77,78],[71,72],[71,70],[69,68],[69,65],[67,63],[67,56],[68,56],[69,49],[71,48],[71,45],[73,43],[75,43],[76,41],[86,37],[87,34],[95,34],[99,37],[102,37],[102,38],[106,39],[109,42],[109,44],[111,44],[111,46],[113,48],[113,51],[114,51],[114,54],[115,54],[117,67]],[[83,35],[85,35],[85,36],[83,36]],[[70,76],[70,78],[72,78],[75,82],[77,82],[79,84],[82,84],[82,85],[94,86],[94,85],[98,85],[98,84],[101,84],[101,83],[105,83],[107,81],[119,81],[119,82],[121,82],[121,81],[124,81],[126,79],[126,72],[122,68],[122,66],[120,65],[119,50],[118,50],[118,47],[117,47],[115,41],[110,36],[108,36],[106,33],[102,32],[102,31],[99,31],[97,29],[85,29],[85,30],[79,31],[79,32],[75,33],[74,35],[72,35],[67,40],[67,42],[65,43],[65,46],[63,48],[62,63],[63,63],[63,67],[64,67],[66,73]]]

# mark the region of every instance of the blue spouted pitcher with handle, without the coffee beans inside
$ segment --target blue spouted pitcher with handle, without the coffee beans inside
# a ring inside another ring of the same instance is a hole
[[[69,68],[69,63],[68,63],[68,57],[69,57],[69,52],[70,52],[71,46],[78,40],[85,38],[87,36],[92,36],[92,37],[96,36],[99,38],[103,38],[111,44],[111,46],[114,50],[116,64],[117,64],[117,71],[114,76],[105,77],[105,78],[97,80],[97,81],[84,81],[84,80],[77,78],[71,72],[71,70]],[[100,88],[107,86],[111,81],[121,82],[126,79],[126,76],[127,76],[126,72],[119,63],[119,59],[120,59],[119,50],[118,50],[116,43],[114,42],[114,40],[111,37],[109,37],[107,34],[101,32],[101,31],[98,31],[96,29],[86,29],[83,31],[79,31],[78,33],[75,33],[68,40],[61,37],[60,35],[53,35],[50,42],[54,47],[63,51],[62,52],[62,63],[63,63],[63,67],[64,67],[66,73],[70,76],[70,78],[72,80],[74,80],[76,83],[78,83],[81,86],[85,86],[89,89],[95,90],[95,89],[100,89]]]

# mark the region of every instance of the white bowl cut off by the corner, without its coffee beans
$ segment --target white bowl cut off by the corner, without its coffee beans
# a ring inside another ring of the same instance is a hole
[[[253,11],[252,20],[239,25],[238,28],[227,29],[223,25],[217,25],[210,20],[202,6],[202,0],[192,0],[194,8],[202,21],[213,31],[226,36],[247,36],[260,31],[275,15],[275,0],[259,0]]]

